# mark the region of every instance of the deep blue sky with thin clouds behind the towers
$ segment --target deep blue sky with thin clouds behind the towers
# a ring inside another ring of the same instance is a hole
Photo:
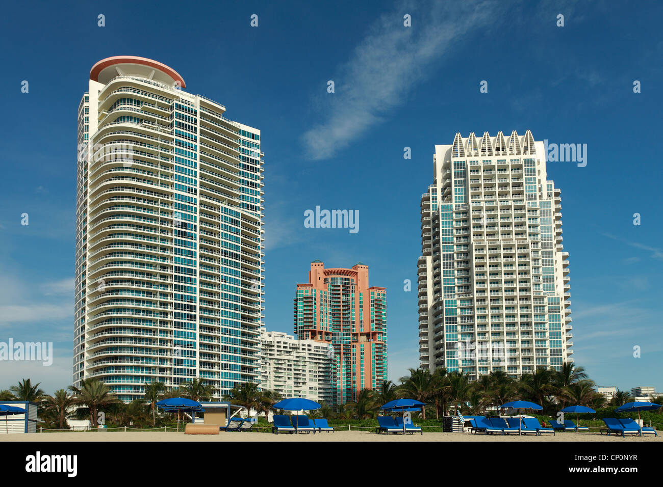
[[[416,292],[403,282],[416,282],[434,145],[513,129],[587,144],[586,167],[548,164],[562,189],[573,356],[600,385],[663,392],[660,5],[169,3],[3,7],[0,341],[52,341],[55,360],[0,363],[0,389],[70,384],[76,110],[91,66],[131,54],[262,131],[267,329],[292,333],[294,285],[312,260],[361,260],[388,290],[392,380],[418,366]],[[359,210],[359,232],[304,228],[316,205]]]

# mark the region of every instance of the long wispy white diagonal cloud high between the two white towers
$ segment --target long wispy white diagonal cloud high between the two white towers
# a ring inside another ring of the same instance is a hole
[[[330,158],[385,119],[455,40],[495,22],[498,7],[498,3],[444,2],[417,9],[400,7],[381,16],[337,70],[335,93],[324,93],[326,120],[302,135],[308,155]],[[406,13],[412,15],[412,27],[403,25]]]

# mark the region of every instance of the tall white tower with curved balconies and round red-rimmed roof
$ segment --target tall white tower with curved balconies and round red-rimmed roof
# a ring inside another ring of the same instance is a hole
[[[74,384],[257,381],[260,131],[160,62],[97,62],[78,108]]]

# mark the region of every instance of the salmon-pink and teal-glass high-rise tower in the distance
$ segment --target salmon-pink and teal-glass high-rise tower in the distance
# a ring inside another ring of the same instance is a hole
[[[311,262],[308,283],[297,284],[294,333],[333,347],[334,404],[387,380],[387,290],[369,288],[367,265],[326,269]]]

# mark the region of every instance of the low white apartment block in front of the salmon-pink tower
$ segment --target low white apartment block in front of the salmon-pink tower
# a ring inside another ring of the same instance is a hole
[[[284,398],[333,402],[333,348],[314,340],[297,340],[280,331],[261,333],[261,388]]]

